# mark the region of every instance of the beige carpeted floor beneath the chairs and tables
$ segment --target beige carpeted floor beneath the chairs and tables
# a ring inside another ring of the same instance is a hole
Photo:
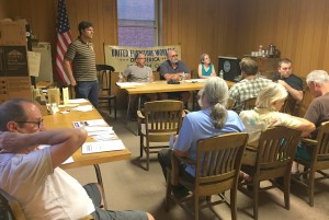
[[[117,136],[123,140],[126,148],[132,151],[132,158],[127,161],[111,162],[101,164],[101,171],[105,187],[105,197],[109,209],[125,210],[138,209],[154,215],[157,220],[190,220],[192,216],[178,206],[171,206],[167,212],[164,210],[166,183],[157,161],[157,155],[151,157],[150,171],[145,167],[145,159],[139,158],[139,137],[132,131],[136,131],[136,123],[123,124],[102,113],[107,123],[114,127]],[[95,182],[93,166],[67,170],[81,184]],[[315,207],[307,204],[304,189],[297,185],[292,185],[291,210],[284,208],[283,194],[279,189],[260,194],[259,219],[266,220],[322,220],[328,219],[329,208],[329,180],[316,184]],[[228,194],[227,194],[228,195]],[[230,219],[228,206],[220,205],[215,208],[222,219]],[[208,210],[202,210],[201,220],[217,219]],[[238,219],[252,219],[252,200],[246,195],[238,193]]]

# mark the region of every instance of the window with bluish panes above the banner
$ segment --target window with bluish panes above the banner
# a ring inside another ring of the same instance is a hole
[[[156,0],[117,0],[118,45],[158,45]]]

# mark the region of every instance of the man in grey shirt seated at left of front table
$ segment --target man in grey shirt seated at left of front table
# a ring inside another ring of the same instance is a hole
[[[155,81],[155,77],[151,68],[145,66],[145,55],[141,53],[136,54],[135,56],[136,65],[127,67],[123,74],[125,77],[125,81],[128,82],[152,82]],[[157,101],[157,94],[145,94],[145,96],[150,101]],[[136,120],[137,118],[137,99],[138,95],[131,95],[131,119]]]

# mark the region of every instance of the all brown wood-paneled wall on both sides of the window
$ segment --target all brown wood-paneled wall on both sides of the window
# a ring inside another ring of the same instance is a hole
[[[328,0],[158,1],[161,44],[180,44],[190,69],[196,69],[203,53],[217,69],[218,55],[241,57],[260,44],[274,44],[282,57],[293,60],[300,77],[314,69],[329,70]],[[55,55],[57,0],[0,2],[0,19],[25,18],[41,42],[52,43]],[[67,0],[67,9],[73,38],[81,20],[93,22],[97,62],[103,62],[103,44],[117,44],[116,0]]]

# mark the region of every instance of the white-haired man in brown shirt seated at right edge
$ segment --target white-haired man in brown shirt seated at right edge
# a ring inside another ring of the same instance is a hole
[[[316,129],[311,134],[304,134],[304,136],[316,139],[321,123],[329,120],[329,74],[325,70],[314,70],[307,76],[306,83],[314,100],[309,104],[304,118],[314,123]],[[299,144],[296,158],[310,160],[310,154]],[[293,166],[293,172],[296,171],[297,167]]]

